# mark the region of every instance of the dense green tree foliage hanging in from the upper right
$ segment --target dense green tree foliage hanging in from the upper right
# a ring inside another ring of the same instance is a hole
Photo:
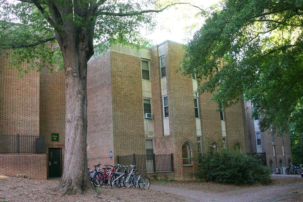
[[[189,42],[183,73],[225,107],[244,94],[261,128],[282,133],[303,117],[302,30],[301,0],[222,1]]]

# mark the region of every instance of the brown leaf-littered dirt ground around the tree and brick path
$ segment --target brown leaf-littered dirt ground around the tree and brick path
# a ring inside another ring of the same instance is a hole
[[[288,183],[303,182],[301,177],[272,177],[271,184],[279,185]],[[58,180],[35,180],[17,177],[7,177],[0,175],[0,202],[19,202],[19,201],[75,201],[75,202],[96,202],[96,201],[110,201],[110,202],[154,202],[154,201],[171,201],[181,202],[188,201],[186,197],[179,195],[169,194],[165,192],[155,191],[151,189],[136,189],[136,188],[112,188],[110,186],[103,185],[100,187],[97,196],[85,196],[85,195],[62,195],[61,193],[52,191],[59,184]],[[240,190],[250,187],[236,186],[236,185],[224,185],[210,182],[195,182],[195,181],[157,181],[151,182],[151,185],[169,186],[193,190],[203,190],[205,192],[227,192],[232,190]],[[262,186],[262,185],[252,185]],[[213,187],[216,187],[214,189]],[[283,201],[301,201],[303,194],[297,194]]]

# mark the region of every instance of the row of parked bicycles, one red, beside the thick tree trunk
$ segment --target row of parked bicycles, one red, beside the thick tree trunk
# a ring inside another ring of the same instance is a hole
[[[103,184],[111,185],[112,187],[136,187],[148,189],[150,180],[144,176],[144,173],[139,172],[135,165],[94,165],[95,169],[88,169],[88,176],[95,187],[101,187]]]

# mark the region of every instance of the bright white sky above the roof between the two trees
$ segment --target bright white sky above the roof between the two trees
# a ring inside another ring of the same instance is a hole
[[[193,5],[197,5],[202,9],[216,4],[219,0],[187,0]],[[153,45],[160,44],[163,41],[170,40],[181,44],[187,44],[203,24],[203,18],[195,17],[198,8],[180,5],[177,8],[170,8],[156,15],[157,26],[154,32],[142,33],[145,38],[152,41]],[[191,28],[185,28],[191,27]]]

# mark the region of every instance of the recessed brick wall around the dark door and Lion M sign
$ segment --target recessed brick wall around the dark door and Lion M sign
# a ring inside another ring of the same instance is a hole
[[[65,150],[65,75],[64,71],[42,69],[40,75],[39,134],[45,135],[46,164],[48,148],[62,148],[62,170]],[[59,141],[51,141],[51,134],[59,134]],[[48,173],[48,166],[47,173]]]

